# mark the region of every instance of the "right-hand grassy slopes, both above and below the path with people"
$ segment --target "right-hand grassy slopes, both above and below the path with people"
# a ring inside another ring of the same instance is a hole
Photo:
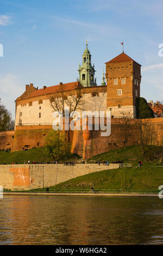
[[[148,148],[147,148],[148,149]],[[96,162],[97,160],[116,161],[123,160],[123,162],[130,162],[133,164],[132,168],[126,168],[127,172],[127,189],[134,190],[158,190],[159,185],[163,185],[163,147],[153,147],[153,161],[146,161],[142,155],[141,147],[139,145],[129,148],[111,150],[103,154],[91,157],[87,162]],[[143,161],[143,166],[138,168],[138,161]],[[156,165],[158,163],[158,166]],[[153,167],[157,166],[157,167]],[[118,168],[113,170],[104,170],[80,176],[56,186],[56,188],[88,188],[95,189],[125,189],[125,169]]]

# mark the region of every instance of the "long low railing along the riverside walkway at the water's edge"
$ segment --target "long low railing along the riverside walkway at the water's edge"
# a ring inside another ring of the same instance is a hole
[[[66,188],[34,188],[32,190],[20,190],[19,188],[15,188],[14,190],[4,189],[3,192],[21,192],[21,193],[64,193],[64,194],[72,194],[72,193],[83,193],[83,194],[158,194],[159,190],[91,190],[91,189],[66,189]]]

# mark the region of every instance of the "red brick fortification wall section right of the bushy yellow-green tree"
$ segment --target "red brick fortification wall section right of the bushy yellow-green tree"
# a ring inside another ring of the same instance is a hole
[[[148,119],[157,131],[156,144],[162,145],[163,118]],[[135,129],[136,119],[132,120],[131,130],[128,137],[128,146],[139,144],[138,131]],[[101,136],[101,131],[74,131],[72,140],[72,151],[78,155],[89,159],[91,156],[104,153],[106,151],[124,147],[124,119],[111,118],[110,136]]]

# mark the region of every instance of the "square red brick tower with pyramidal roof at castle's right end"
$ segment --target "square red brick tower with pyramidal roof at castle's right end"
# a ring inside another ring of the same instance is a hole
[[[106,62],[107,109],[114,117],[130,113],[136,118],[136,97],[140,97],[141,65],[126,53]]]

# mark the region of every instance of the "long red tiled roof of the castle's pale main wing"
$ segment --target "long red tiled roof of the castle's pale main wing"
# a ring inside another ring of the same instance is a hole
[[[49,86],[46,87],[45,89],[39,89],[35,90],[32,92],[29,97],[36,97],[36,96],[41,96],[41,95],[46,95],[46,94],[51,94],[51,93],[58,93],[61,92],[61,90],[64,87],[64,92],[68,90],[74,90],[77,88],[83,88],[82,84],[80,82],[72,82],[72,83],[63,83],[61,86],[58,84],[57,86]]]

